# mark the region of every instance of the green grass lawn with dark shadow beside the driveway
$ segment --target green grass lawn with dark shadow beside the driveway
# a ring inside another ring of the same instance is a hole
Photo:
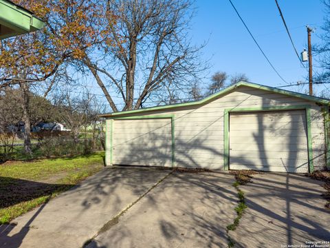
[[[7,161],[0,165],[0,224],[46,203],[104,167],[104,152],[89,156]]]

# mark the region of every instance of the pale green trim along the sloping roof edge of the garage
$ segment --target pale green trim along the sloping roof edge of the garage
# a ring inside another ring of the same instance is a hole
[[[269,87],[265,85],[259,85],[256,83],[248,83],[241,81],[239,83],[235,83],[234,85],[231,85],[229,87],[226,87],[225,89],[221,90],[220,92],[217,92],[215,94],[212,94],[205,99],[201,99],[200,101],[194,101],[194,102],[189,102],[189,103],[179,103],[179,104],[173,104],[173,105],[164,105],[160,107],[148,107],[144,109],[139,109],[139,110],[129,110],[129,111],[124,111],[124,112],[114,112],[112,114],[102,114],[100,115],[101,117],[113,117],[113,116],[122,116],[124,114],[135,114],[135,113],[144,113],[144,112],[149,112],[149,111],[155,111],[155,110],[169,110],[177,107],[188,107],[188,106],[197,106],[197,105],[202,105],[204,103],[208,103],[209,101],[212,101],[214,99],[217,99],[219,96],[222,96],[223,94],[227,94],[228,92],[235,90],[237,87],[241,86],[246,86],[246,87],[252,87],[254,89],[259,89],[259,90],[265,90],[268,92],[274,92],[278,94],[284,94],[286,96],[294,96],[299,99],[305,99],[307,101],[313,101],[315,103],[321,103],[324,105],[329,105],[330,100],[327,99],[322,99],[316,96],[309,96],[307,94],[300,94],[296,92],[290,92],[288,90],[280,90],[274,87]]]

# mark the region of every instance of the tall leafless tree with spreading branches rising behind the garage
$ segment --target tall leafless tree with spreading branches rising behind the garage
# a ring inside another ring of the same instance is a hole
[[[205,68],[201,47],[187,39],[190,0],[109,0],[107,9],[118,17],[109,27],[115,45],[103,46],[99,54],[105,56],[98,56],[99,61],[93,59],[96,51],[90,51],[84,63],[114,112],[138,109],[156,90],[168,83],[183,85]],[[118,107],[109,89],[124,107]]]

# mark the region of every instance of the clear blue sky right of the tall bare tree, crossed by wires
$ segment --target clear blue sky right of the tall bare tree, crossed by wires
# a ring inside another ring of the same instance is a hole
[[[307,70],[300,65],[289,41],[274,0],[232,0],[274,68],[287,83],[306,81]],[[283,16],[300,54],[307,48],[306,25],[316,28],[311,42],[320,41],[325,8],[319,0],[278,0]],[[203,59],[210,59],[208,77],[217,71],[245,73],[250,81],[277,87],[287,85],[267,63],[229,0],[197,0],[192,19],[192,42],[207,41]],[[317,66],[317,62],[314,61]],[[305,62],[305,66],[308,63]],[[318,70],[317,67],[314,70]]]

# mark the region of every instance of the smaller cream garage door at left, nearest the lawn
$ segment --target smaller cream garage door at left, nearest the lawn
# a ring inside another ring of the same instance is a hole
[[[113,121],[114,165],[172,165],[170,118]]]

